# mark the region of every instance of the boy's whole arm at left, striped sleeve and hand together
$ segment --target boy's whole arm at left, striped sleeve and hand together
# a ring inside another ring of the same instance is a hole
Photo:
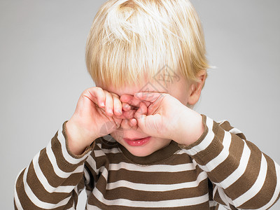
[[[76,207],[80,190],[90,183],[85,160],[94,140],[116,130],[125,118],[119,98],[101,87],[83,91],[70,120],[19,174],[15,209]]]

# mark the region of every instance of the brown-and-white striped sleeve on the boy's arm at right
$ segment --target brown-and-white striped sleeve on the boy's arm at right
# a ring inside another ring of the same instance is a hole
[[[226,209],[269,209],[279,199],[280,167],[228,121],[203,116],[202,137],[186,150],[213,183]]]

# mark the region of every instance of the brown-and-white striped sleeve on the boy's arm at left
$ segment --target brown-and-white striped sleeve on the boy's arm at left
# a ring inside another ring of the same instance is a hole
[[[67,145],[65,124],[18,175],[15,209],[76,208],[78,194],[85,188],[84,162],[94,144],[82,155],[73,155]]]

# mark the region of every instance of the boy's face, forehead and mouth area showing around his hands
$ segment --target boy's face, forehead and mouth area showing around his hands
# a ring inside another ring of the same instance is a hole
[[[163,83],[162,83],[163,84]],[[102,87],[102,85],[98,85],[97,87]],[[166,84],[164,84],[166,85]],[[133,85],[133,86],[125,86],[124,88],[116,90],[115,88],[102,87],[102,89],[107,90],[108,92],[113,92],[118,94],[120,97],[123,94],[131,94],[134,95],[135,92],[165,92],[171,94],[176,99],[186,105],[188,103],[189,94],[189,85],[186,80],[182,77],[179,81],[173,81],[172,83],[168,83],[167,87],[160,85],[157,81],[144,83],[143,85]],[[147,91],[148,89],[148,91]],[[115,132],[111,133],[111,136],[118,141],[118,143],[122,144],[125,148],[127,148],[132,155],[136,155],[139,157],[144,157],[150,155],[151,153],[158,151],[160,148],[164,148],[169,145],[172,139],[161,139],[158,137],[151,137],[148,141],[140,141],[135,142],[135,145],[130,144],[131,141],[126,141],[125,139],[141,139],[148,137],[147,134],[141,131],[138,127],[137,130],[130,127],[128,125],[128,120],[123,119],[120,127]],[[144,144],[143,144],[144,142]]]

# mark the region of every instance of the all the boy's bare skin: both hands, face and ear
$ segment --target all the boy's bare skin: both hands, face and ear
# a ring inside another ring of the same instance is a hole
[[[147,83],[118,90],[96,83],[97,87],[81,94],[75,113],[66,123],[69,149],[80,155],[94,139],[107,133],[139,157],[168,146],[172,140],[186,146],[193,144],[204,127],[202,116],[186,104],[194,105],[200,98],[205,71],[197,79],[196,83],[180,79],[165,87],[147,80],[152,84],[148,92],[139,92]],[[110,126],[100,134],[104,124]],[[124,140],[144,137],[151,139],[142,146],[130,146]]]

